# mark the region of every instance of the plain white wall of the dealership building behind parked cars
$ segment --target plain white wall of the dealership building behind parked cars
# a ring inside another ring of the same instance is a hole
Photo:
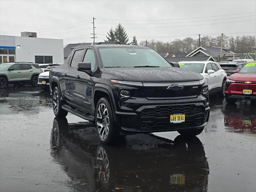
[[[62,39],[16,36],[15,46],[16,62],[35,62],[36,55],[52,56],[53,63],[64,62]]]

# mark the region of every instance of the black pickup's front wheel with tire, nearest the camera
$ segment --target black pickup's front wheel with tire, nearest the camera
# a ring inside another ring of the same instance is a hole
[[[100,98],[95,109],[95,125],[98,137],[104,144],[116,142],[119,132],[114,124],[112,107],[106,98]]]

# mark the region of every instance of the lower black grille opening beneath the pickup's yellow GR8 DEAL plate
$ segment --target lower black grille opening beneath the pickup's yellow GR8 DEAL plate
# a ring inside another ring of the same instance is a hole
[[[199,117],[194,120],[186,120],[182,123],[170,124],[169,122],[141,122],[140,127],[142,130],[164,130],[164,129],[177,129],[177,128],[190,128],[200,126],[204,123],[204,118]]]

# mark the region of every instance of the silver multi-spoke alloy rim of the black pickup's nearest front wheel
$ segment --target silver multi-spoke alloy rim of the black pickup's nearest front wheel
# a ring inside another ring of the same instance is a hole
[[[104,103],[101,103],[97,109],[97,128],[100,138],[105,140],[109,132],[109,115]]]

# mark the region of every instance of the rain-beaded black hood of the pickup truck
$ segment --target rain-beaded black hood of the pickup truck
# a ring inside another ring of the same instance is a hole
[[[157,68],[105,68],[105,71],[120,75],[125,81],[138,82],[184,82],[202,80],[203,76],[176,67]]]

